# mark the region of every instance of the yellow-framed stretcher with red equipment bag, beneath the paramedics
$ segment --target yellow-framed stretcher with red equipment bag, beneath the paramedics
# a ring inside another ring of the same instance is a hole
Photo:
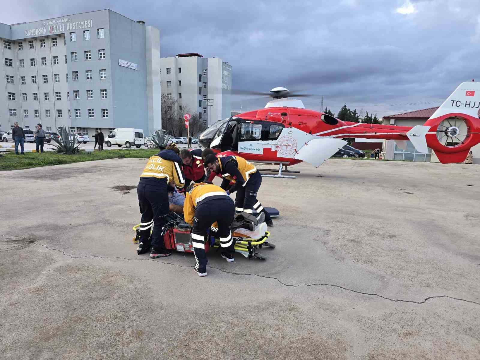
[[[133,238],[134,243],[138,243],[140,240],[140,224],[133,227],[135,231],[135,237]],[[191,230],[192,227],[182,222],[181,220],[173,220],[168,222],[164,228],[164,243],[165,247],[169,250],[176,250],[178,252],[193,252],[192,245],[192,236]],[[235,252],[239,252],[247,259],[260,259],[266,260],[267,257],[259,252],[258,249],[262,247],[275,248],[275,245],[272,243],[265,243],[266,240],[270,237],[270,232],[266,230],[267,226],[265,223],[260,224],[256,231],[248,231],[244,229],[236,229],[232,232],[232,238],[235,241]],[[210,231],[209,240],[205,244],[205,251],[208,251],[210,247],[218,249],[220,247],[220,240],[215,238],[215,229]]]

